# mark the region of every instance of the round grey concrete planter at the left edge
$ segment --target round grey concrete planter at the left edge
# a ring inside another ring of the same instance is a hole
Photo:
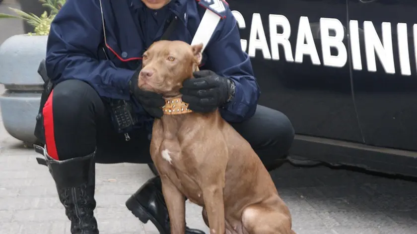
[[[44,81],[37,73],[45,58],[47,36],[15,35],[0,46],[1,117],[14,138],[33,144],[36,115]]]

